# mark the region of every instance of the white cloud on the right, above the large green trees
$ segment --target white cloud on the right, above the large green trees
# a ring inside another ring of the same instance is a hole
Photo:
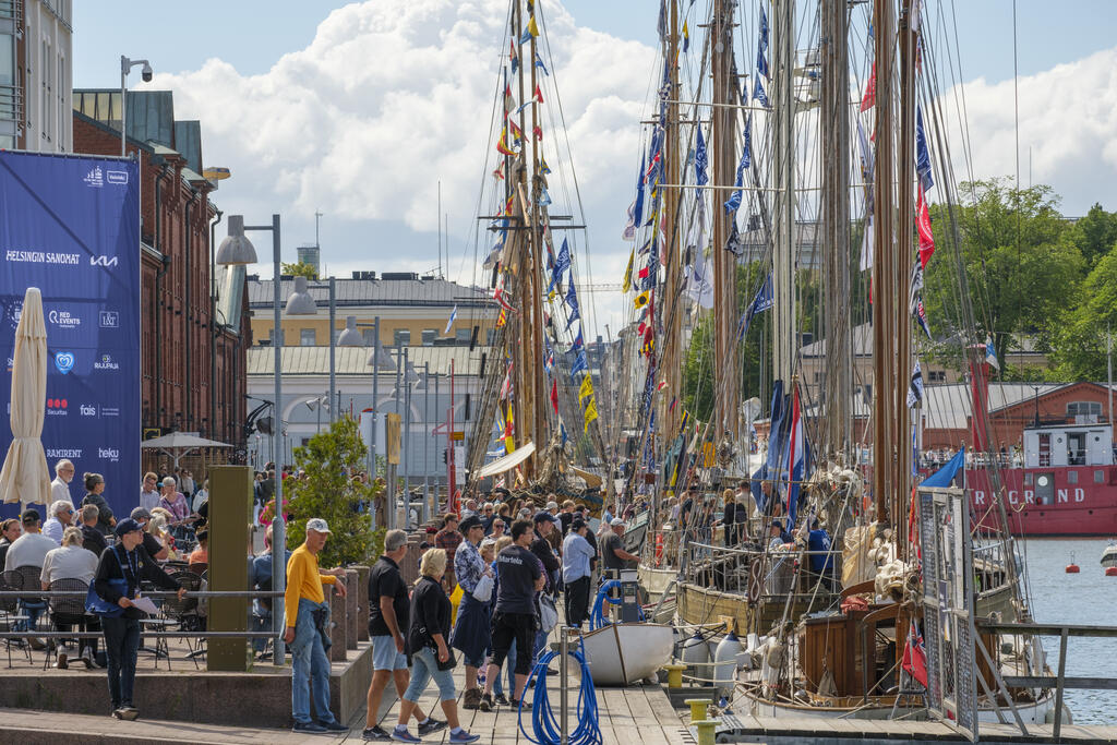
[[[1063,198],[1067,214],[1085,214],[1094,202],[1117,209],[1117,48],[1021,77],[1020,178],[1028,184],[1029,147],[1032,183],[1050,184]],[[1013,83],[978,78],[965,85],[974,175],[1015,173]],[[948,107],[954,93],[946,95]],[[952,112],[952,122],[956,118]],[[952,134],[957,124],[952,123]],[[955,140],[956,141],[956,140]],[[961,147],[954,150],[955,174],[967,178]]]

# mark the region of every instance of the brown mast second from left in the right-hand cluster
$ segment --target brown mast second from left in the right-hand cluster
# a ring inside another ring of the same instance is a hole
[[[733,6],[731,0],[715,0],[710,25],[710,71],[713,74],[710,111],[710,182],[717,187],[733,183],[734,178],[734,103],[736,80],[733,77]],[[725,250],[729,238],[729,220],[719,201],[723,190],[710,210],[714,265],[714,370],[715,389],[714,434],[720,441],[726,429],[737,421],[737,344],[736,344],[736,257]]]

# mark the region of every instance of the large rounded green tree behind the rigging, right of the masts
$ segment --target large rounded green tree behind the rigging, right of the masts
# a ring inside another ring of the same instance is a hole
[[[955,208],[961,260],[973,304],[978,338],[955,336],[935,356],[961,361],[963,344],[992,335],[1002,361],[1013,334],[1056,331],[1067,300],[1081,280],[1085,261],[1059,213],[1050,187],[1014,189],[1009,179],[963,183]],[[958,247],[943,206],[932,211],[935,258],[927,265],[924,304],[936,334],[958,335],[966,328],[960,299]]]

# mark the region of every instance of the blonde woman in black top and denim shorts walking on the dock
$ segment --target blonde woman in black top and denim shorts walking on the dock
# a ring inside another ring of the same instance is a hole
[[[454,666],[457,663],[447,647],[450,634],[450,599],[442,590],[446,574],[446,551],[431,548],[422,555],[419,581],[411,594],[411,618],[408,622],[407,650],[411,658],[411,682],[400,699],[400,718],[392,730],[399,743],[421,743],[408,732],[408,719],[431,678],[438,686],[442,711],[450,726],[451,743],[474,743],[480,735],[470,735],[458,720],[457,693],[454,689]]]

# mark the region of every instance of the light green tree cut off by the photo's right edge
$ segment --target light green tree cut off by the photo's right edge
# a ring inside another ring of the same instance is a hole
[[[1065,380],[1106,379],[1106,334],[1117,332],[1117,246],[1082,283],[1073,307],[1053,335],[1053,357]]]

